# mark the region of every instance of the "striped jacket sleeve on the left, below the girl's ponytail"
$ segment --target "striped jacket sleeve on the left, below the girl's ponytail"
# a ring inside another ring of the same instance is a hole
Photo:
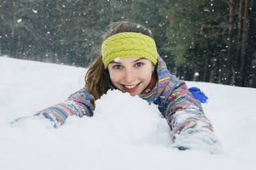
[[[94,101],[94,97],[85,88],[82,88],[70,95],[66,101],[41,110],[35,115],[50,119],[54,127],[59,127],[65,123],[67,117],[72,115],[92,117],[95,107]]]

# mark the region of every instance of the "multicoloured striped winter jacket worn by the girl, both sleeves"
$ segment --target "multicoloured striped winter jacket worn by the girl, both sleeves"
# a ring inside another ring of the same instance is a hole
[[[156,85],[150,93],[139,95],[139,97],[145,99],[149,104],[158,105],[160,112],[171,127],[173,140],[175,134],[180,134],[197,124],[213,131],[211,123],[204,116],[200,102],[193,98],[185,82],[171,75],[160,57],[158,57],[156,72],[158,74]],[[109,85],[109,88],[113,87]],[[65,119],[71,115],[92,117],[94,107],[94,97],[85,88],[82,88],[70,95],[63,103],[41,110],[36,115],[43,115],[53,121],[55,127],[58,127],[63,125]]]

